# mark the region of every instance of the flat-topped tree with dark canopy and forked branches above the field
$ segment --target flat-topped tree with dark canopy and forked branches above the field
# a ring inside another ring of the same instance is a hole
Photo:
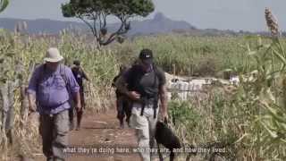
[[[71,0],[62,4],[64,17],[76,17],[84,21],[92,31],[100,46],[105,46],[123,36],[130,30],[130,18],[146,17],[154,11],[151,0]],[[121,24],[117,30],[107,30],[107,18],[114,16]]]

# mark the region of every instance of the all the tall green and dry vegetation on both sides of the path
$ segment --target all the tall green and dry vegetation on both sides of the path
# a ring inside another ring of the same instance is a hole
[[[241,74],[241,80],[248,80],[231,93],[218,87],[188,102],[172,100],[169,105],[172,128],[184,143],[224,146],[229,150],[224,157],[229,159],[285,159],[285,39],[166,35],[138,37],[98,50],[87,43],[88,38],[79,35],[63,31],[55,38],[32,37],[1,31],[1,87],[2,91],[3,87],[13,87],[8,88],[10,95],[1,93],[1,104],[4,106],[6,101],[3,97],[9,97],[13,105],[10,106],[13,113],[5,113],[5,119],[12,121],[9,128],[13,130],[13,140],[17,140],[15,144],[21,142],[13,146],[17,152],[39,151],[34,146],[38,142],[37,127],[28,125],[27,118],[22,116],[24,102],[19,87],[27,86],[30,73],[36,64],[42,63],[48,47],[58,47],[67,65],[80,59],[91,78],[86,87],[88,109],[97,112],[113,106],[111,81],[119,65],[131,64],[140,49],[150,47],[156,63],[167,72],[221,76],[223,70],[232,69]],[[248,73],[253,71],[257,72],[249,80]],[[3,115],[0,118],[4,120]],[[4,133],[1,131],[0,135],[1,147],[6,149],[3,159],[11,155],[7,150],[11,149],[10,136]]]

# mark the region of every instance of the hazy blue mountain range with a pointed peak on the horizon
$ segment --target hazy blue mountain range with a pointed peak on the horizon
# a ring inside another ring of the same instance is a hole
[[[59,33],[63,29],[80,29],[90,32],[88,26],[79,21],[54,21],[49,19],[37,20],[20,20],[20,19],[3,19],[0,18],[0,29],[13,30],[18,21],[27,21],[29,26],[28,33],[41,33],[45,31],[49,34]],[[108,30],[118,30],[117,23],[108,24]],[[144,21],[131,21],[131,30],[126,34],[127,36],[133,35],[149,35],[172,33],[173,30],[189,30],[195,29],[186,21],[173,21],[167,18],[164,13],[156,13],[152,20]]]

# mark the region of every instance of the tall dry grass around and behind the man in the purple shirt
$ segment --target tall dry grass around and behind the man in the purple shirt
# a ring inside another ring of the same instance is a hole
[[[23,119],[21,113],[21,85],[27,86],[31,72],[37,64],[43,63],[48,47],[58,47],[65,61],[64,64],[71,66],[75,59],[81,61],[82,67],[87,72],[90,82],[86,83],[86,99],[88,109],[93,111],[105,111],[113,106],[113,89],[111,81],[117,72],[118,63],[114,51],[108,49],[98,50],[91,44],[84,43],[84,38],[76,38],[75,34],[63,32],[57,38],[22,36],[20,33],[3,31],[0,39],[0,62],[1,62],[1,88],[10,82],[14,84],[14,100],[9,106],[14,114],[9,118],[13,128],[13,145],[9,146],[6,138],[6,131],[0,133],[0,145],[3,153],[0,160],[13,158],[13,153],[32,155],[41,153],[38,147],[38,126],[37,117],[35,120]],[[20,79],[21,78],[21,79]],[[4,95],[1,95],[1,129],[3,130]],[[27,102],[26,102],[27,103]],[[9,113],[9,112],[8,112]],[[33,115],[33,114],[32,114]],[[8,114],[8,116],[10,116]],[[33,123],[34,122],[34,123]],[[18,143],[21,143],[18,145]],[[13,149],[13,150],[12,150]],[[10,151],[10,152],[9,152]],[[12,156],[11,156],[12,155]]]

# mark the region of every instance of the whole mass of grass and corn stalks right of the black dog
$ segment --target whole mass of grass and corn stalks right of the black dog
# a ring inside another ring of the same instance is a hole
[[[220,154],[224,160],[286,159],[285,42],[279,38],[277,21],[268,20],[273,19],[271,12],[266,9],[265,14],[273,37],[245,43],[240,86],[231,93],[208,90],[201,101],[170,105],[173,128],[183,141],[227,148]],[[214,154],[205,156],[211,157]]]

